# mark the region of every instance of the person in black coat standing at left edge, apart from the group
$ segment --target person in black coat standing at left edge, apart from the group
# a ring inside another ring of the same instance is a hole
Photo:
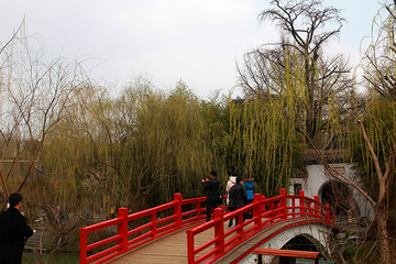
[[[10,208],[0,215],[0,263],[20,264],[25,239],[33,235],[26,219],[21,213],[22,196],[9,197]]]

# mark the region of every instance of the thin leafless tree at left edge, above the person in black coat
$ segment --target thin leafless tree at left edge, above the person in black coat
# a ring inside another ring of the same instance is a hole
[[[47,62],[37,37],[28,37],[24,23],[1,47],[0,172],[4,196],[9,186],[21,191],[40,168],[40,154],[48,133],[64,118],[76,87],[87,81],[79,62],[56,58]],[[7,163],[7,172],[3,167]],[[13,172],[23,163],[24,172]]]

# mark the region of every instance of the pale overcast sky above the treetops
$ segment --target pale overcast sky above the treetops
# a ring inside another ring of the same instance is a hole
[[[376,0],[324,0],[348,20],[328,46],[358,62],[381,4]],[[183,79],[199,97],[227,94],[235,64],[250,50],[274,42],[274,25],[258,24],[268,0],[2,0],[0,46],[25,18],[53,58],[88,59],[91,78],[122,87],[148,74],[161,89]],[[94,67],[95,65],[95,67]]]

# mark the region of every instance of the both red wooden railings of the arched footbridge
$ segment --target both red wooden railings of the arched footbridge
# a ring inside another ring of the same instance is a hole
[[[127,208],[120,208],[116,219],[80,229],[80,264],[106,263],[147,242],[204,221],[204,201],[206,197],[183,200],[180,194],[175,194],[170,202],[132,215],[128,215]],[[253,211],[253,218],[243,221],[248,211]],[[238,218],[238,227],[226,231],[223,223],[233,218]],[[252,204],[230,213],[224,213],[224,208],[217,208],[213,220],[187,230],[188,263],[211,263],[265,228],[279,221],[304,218],[307,223],[334,224],[329,206],[320,204],[318,197],[305,197],[304,191],[294,196],[282,189],[279,196],[268,199],[256,194]],[[195,246],[195,237],[211,228],[215,228],[213,238]]]

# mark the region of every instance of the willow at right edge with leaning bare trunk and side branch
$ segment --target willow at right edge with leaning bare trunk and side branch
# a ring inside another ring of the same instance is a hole
[[[367,94],[351,92],[345,106],[334,98],[330,111],[340,144],[348,146],[351,162],[358,165],[360,185],[332,170],[321,157],[334,178],[356,189],[374,208],[374,235],[369,237],[371,241],[356,243],[353,262],[395,263],[395,3],[382,11],[374,20],[372,42],[362,63]]]

